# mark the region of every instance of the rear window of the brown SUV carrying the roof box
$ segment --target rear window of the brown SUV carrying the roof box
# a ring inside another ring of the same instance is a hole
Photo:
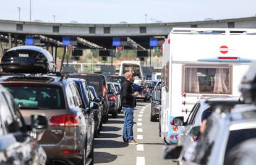
[[[23,109],[65,109],[63,91],[59,87],[5,85],[14,103]]]

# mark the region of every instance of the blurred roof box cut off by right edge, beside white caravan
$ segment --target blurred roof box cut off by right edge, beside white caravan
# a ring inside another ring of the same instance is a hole
[[[239,90],[245,104],[256,104],[256,61],[252,62],[249,70],[242,78]]]

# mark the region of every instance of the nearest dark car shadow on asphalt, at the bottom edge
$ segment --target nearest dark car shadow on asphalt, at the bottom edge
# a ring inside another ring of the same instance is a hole
[[[110,163],[116,160],[117,155],[103,152],[94,152],[94,163]]]

